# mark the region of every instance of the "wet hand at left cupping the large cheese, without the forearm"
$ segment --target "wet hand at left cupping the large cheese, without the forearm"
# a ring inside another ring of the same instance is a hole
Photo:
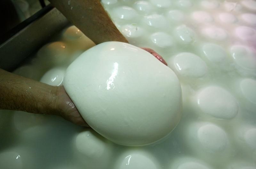
[[[57,87],[56,100],[55,100],[56,115],[71,121],[79,126],[90,127],[83,119],[81,114],[76,109],[76,106],[69,98],[63,86]]]

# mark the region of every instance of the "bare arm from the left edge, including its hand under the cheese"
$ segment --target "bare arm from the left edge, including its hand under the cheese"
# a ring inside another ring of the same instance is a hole
[[[0,109],[55,114],[88,126],[63,86],[51,86],[0,69]]]

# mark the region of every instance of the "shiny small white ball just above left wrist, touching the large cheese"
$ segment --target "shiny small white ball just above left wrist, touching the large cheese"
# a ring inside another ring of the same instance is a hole
[[[63,68],[53,68],[48,70],[44,76],[41,78],[40,82],[43,82],[52,86],[62,85],[63,77],[65,75],[65,69]]]

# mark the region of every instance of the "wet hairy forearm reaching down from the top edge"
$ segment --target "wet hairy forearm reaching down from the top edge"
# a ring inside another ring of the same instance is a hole
[[[95,44],[128,41],[118,31],[100,0],[49,0],[69,21]]]

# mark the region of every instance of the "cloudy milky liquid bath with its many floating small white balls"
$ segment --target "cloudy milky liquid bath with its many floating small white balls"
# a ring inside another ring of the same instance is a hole
[[[158,143],[128,147],[60,117],[1,111],[0,168],[255,169],[256,1],[102,4],[132,45],[156,50],[178,76],[178,126]],[[52,69],[66,69],[92,46],[69,27],[14,73],[40,80],[48,71],[44,82],[57,85],[61,74]]]

